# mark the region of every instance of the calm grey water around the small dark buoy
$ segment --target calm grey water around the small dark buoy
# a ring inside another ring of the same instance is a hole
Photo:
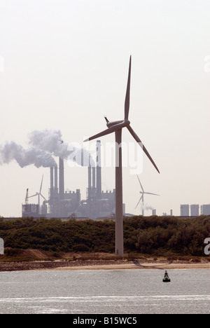
[[[0,313],[210,313],[209,270],[0,273]]]

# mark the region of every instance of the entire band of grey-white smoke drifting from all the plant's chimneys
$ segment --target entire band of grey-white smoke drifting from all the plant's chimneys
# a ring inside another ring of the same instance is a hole
[[[13,141],[0,144],[0,165],[16,160],[21,168],[28,165],[50,168],[57,166],[52,156],[68,159],[82,166],[88,166],[89,159],[92,158],[87,149],[79,144],[63,142],[59,130],[32,131],[29,133],[28,149]]]

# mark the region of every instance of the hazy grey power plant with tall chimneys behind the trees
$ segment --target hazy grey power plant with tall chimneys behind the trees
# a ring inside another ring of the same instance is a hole
[[[50,189],[48,200],[41,195],[41,188],[36,195],[27,196],[22,205],[22,217],[55,217],[55,218],[106,218],[115,214],[116,190],[102,191],[101,142],[97,140],[97,164],[87,167],[86,199],[81,200],[80,189],[65,191],[64,159],[59,157],[59,166],[50,167]],[[38,205],[29,204],[29,198],[38,196]],[[40,205],[39,196],[44,198]],[[123,204],[125,213],[125,204]]]

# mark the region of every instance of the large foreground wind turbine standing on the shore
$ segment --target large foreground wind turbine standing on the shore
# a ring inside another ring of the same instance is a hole
[[[141,143],[141,140],[136,135],[134,130],[130,126],[130,121],[128,121],[129,109],[130,109],[130,78],[131,78],[131,62],[132,56],[130,56],[129,72],[127,78],[127,90],[125,96],[125,117],[124,120],[109,122],[106,119],[106,130],[99,132],[97,135],[94,135],[88,139],[85,139],[85,142],[97,139],[104,135],[109,135],[112,132],[116,134],[116,255],[123,257],[123,177],[122,177],[122,130],[127,128],[130,131],[134,139],[139,143],[141,148],[148,156],[151,163],[155,166],[155,169],[159,172],[155,162],[151,158],[150,154],[146,150],[146,147]],[[160,173],[160,172],[159,172]]]

